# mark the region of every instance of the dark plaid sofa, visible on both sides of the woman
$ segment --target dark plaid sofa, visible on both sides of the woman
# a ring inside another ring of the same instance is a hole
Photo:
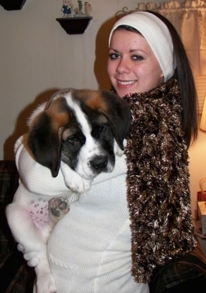
[[[16,250],[16,243],[5,218],[5,206],[12,201],[18,185],[19,174],[14,161],[0,161],[1,293],[32,293],[35,279],[34,269],[27,266],[21,252]],[[187,256],[175,259],[164,267],[159,267],[150,282],[150,293],[200,293],[205,290],[206,259],[200,245]]]

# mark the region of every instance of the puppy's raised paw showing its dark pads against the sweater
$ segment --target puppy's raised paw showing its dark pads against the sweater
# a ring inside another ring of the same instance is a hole
[[[50,199],[49,210],[51,210],[54,216],[65,216],[69,212],[69,203],[67,199],[58,197],[56,199]]]

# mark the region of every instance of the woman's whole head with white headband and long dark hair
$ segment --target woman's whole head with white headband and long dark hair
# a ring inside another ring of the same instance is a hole
[[[172,23],[156,12],[128,14],[113,26],[108,46],[108,76],[120,97],[148,92],[172,77],[177,79],[183,131],[187,146],[190,145],[197,136],[196,88],[183,43]],[[133,50],[141,54],[134,54]]]

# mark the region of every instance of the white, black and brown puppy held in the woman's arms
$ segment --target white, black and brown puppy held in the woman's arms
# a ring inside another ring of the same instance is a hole
[[[52,199],[27,190],[20,181],[6,214],[18,249],[35,267],[34,290],[53,293],[56,285],[47,261],[49,233],[67,214],[69,203],[91,188],[95,176],[113,171],[115,154],[124,153],[130,108],[110,91],[69,88],[34,110],[28,124],[30,131],[24,142],[28,156],[47,167],[51,177],[61,173],[68,192],[64,198],[60,194]],[[40,223],[40,214],[47,220]]]

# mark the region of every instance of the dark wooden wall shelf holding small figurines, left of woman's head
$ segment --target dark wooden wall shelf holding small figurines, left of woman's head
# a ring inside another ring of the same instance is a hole
[[[92,17],[71,17],[56,19],[67,34],[84,34]]]

